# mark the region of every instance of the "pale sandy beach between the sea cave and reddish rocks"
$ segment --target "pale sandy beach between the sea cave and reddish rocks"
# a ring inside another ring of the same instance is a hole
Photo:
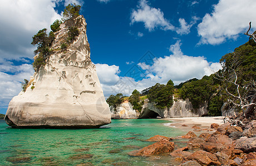
[[[210,125],[217,123],[222,125],[224,123],[224,116],[218,117],[182,117],[182,118],[168,118],[165,120],[172,121],[170,127],[179,128],[183,131],[193,131],[196,135],[208,131],[215,132],[215,129],[210,128]],[[198,126],[199,128],[193,128],[193,126]]]

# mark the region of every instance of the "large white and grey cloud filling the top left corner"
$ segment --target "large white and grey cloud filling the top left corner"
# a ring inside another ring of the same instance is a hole
[[[51,0],[3,0],[0,6],[0,55],[2,58],[32,58],[34,47],[30,44],[38,30],[47,28],[60,19]],[[4,16],[7,15],[8,17]]]

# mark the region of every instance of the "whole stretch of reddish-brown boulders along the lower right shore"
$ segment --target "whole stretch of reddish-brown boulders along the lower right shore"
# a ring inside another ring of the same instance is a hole
[[[181,125],[182,126],[182,125]],[[188,125],[183,124],[183,127]],[[199,136],[196,136],[196,134]],[[256,121],[245,128],[229,122],[213,123],[208,128],[194,125],[185,136],[169,138],[156,135],[146,141],[155,142],[129,153],[130,156],[170,155],[180,165],[256,165]],[[179,147],[176,142],[184,142]]]

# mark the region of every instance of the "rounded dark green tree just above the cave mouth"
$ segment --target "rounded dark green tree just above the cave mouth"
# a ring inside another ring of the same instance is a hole
[[[150,102],[154,102],[157,108],[171,107],[173,105],[173,81],[168,81],[168,85],[157,83],[152,86],[147,94]]]

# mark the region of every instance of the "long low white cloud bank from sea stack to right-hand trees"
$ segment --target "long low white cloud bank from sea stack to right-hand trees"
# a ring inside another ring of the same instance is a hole
[[[220,63],[209,63],[203,56],[184,55],[180,46],[181,43],[178,40],[170,46],[172,55],[155,58],[152,65],[137,64],[142,69],[140,81],[135,81],[132,77],[119,76],[119,66],[96,64],[104,95],[117,93],[130,95],[134,89],[141,91],[157,82],[166,84],[170,79],[178,85],[194,77],[201,79],[204,75],[213,74],[221,69]]]

